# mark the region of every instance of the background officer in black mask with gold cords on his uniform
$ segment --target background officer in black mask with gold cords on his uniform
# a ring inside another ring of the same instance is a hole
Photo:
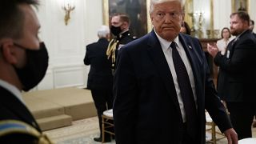
[[[114,38],[111,40],[107,50],[107,58],[111,58],[112,72],[114,74],[115,61],[118,58],[118,50],[122,46],[134,40],[129,31],[130,18],[126,14],[114,14],[111,18],[111,33],[114,34]]]

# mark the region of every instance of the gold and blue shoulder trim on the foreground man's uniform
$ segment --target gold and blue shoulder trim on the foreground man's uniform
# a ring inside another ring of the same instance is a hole
[[[8,134],[26,134],[37,140],[37,144],[53,144],[46,134],[40,133],[33,126],[18,120],[0,121],[0,139]]]

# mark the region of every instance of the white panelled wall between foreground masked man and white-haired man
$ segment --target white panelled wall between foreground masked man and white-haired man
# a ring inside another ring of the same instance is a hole
[[[75,9],[65,25],[64,0],[41,0],[38,18],[39,34],[50,56],[45,78],[35,88],[46,90],[66,86],[86,86],[89,66],[84,66],[86,45],[98,40],[97,30],[102,25],[102,0],[74,0]]]

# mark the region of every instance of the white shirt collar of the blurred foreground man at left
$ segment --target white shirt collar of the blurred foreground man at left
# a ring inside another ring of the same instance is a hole
[[[25,102],[23,101],[23,98],[22,98],[22,93],[20,90],[17,89],[17,87],[11,85],[10,83],[8,83],[6,81],[3,81],[2,79],[0,79],[0,86],[5,88],[6,90],[10,91],[10,93],[14,94],[23,104],[25,104]]]

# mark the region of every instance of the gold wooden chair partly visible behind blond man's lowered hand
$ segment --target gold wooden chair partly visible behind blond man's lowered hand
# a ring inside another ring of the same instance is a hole
[[[210,126],[210,128],[206,129],[206,131],[211,131],[211,140],[207,141],[213,144],[216,144],[218,140],[222,138],[226,138],[226,136],[218,131],[216,131],[216,124],[214,121],[210,118],[210,114],[206,111],[206,126]],[[217,138],[217,135],[220,135],[219,138]]]

